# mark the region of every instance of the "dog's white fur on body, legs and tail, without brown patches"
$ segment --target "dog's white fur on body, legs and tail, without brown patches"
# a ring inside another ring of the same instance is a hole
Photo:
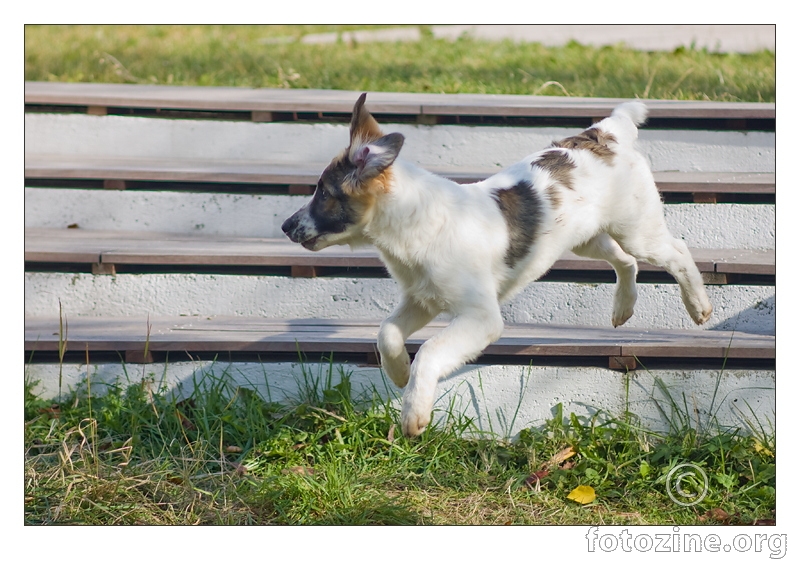
[[[611,164],[585,149],[559,150],[576,167],[572,189],[557,186],[557,206],[544,194],[554,182],[550,172],[532,166],[541,153],[469,185],[394,161],[391,186],[377,196],[357,238],[375,245],[403,292],[400,305],[381,325],[378,348],[387,375],[406,388],[405,435],[420,434],[430,422],[437,382],[500,337],[500,304],[541,277],[566,251],[614,267],[615,327],[633,314],[637,260],[664,267],[678,281],[694,321],[708,319],[711,304],[700,273],[683,241],[667,230],[653,176],[633,147],[636,126],[646,113],[640,102],[624,103],[595,124],[617,141],[609,144]],[[530,251],[510,269],[505,262],[508,228],[493,193],[520,181],[539,193],[544,212]],[[411,364],[406,340],[441,312],[452,321],[422,345]]]

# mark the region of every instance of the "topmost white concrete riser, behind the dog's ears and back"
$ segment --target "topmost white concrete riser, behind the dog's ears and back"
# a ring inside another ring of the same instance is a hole
[[[588,125],[587,125],[588,127]],[[401,157],[429,167],[499,169],[580,129],[391,125],[406,136]],[[25,152],[94,157],[305,162],[325,165],[348,142],[348,126],[25,115]],[[656,171],[774,172],[775,134],[642,129]]]

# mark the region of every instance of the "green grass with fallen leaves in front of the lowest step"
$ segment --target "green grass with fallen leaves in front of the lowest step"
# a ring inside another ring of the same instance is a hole
[[[308,370],[307,370],[308,371]],[[152,382],[25,399],[29,524],[715,524],[775,518],[774,433],[564,416],[517,439],[470,438],[451,412],[416,440],[341,370],[308,374],[304,397],[264,401],[225,378],[177,401]],[[100,391],[98,391],[100,389]],[[571,448],[571,449],[570,449]],[[564,458],[559,452],[573,451]],[[665,488],[682,462],[709,493]],[[536,475],[536,476],[534,476]],[[537,478],[538,477],[538,478]],[[597,498],[567,499],[578,485]],[[720,517],[720,515],[723,515]]]

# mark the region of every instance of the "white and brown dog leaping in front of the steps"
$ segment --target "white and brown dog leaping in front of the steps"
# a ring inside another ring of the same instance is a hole
[[[365,99],[353,109],[349,147],[282,228],[309,250],[372,244],[399,282],[402,302],[381,324],[378,349],[388,376],[407,386],[406,436],[430,422],[437,382],[500,337],[500,304],[566,251],[614,267],[615,327],[633,315],[637,259],[672,274],[692,319],[708,320],[700,272],[667,230],[653,175],[634,150],[643,103],[623,103],[583,133],[460,185],[398,159],[403,136],[384,135]],[[442,312],[452,321],[411,364],[406,340]]]

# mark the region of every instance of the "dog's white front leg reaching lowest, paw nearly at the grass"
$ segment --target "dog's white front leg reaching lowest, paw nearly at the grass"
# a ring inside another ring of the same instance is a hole
[[[502,333],[503,319],[500,307],[495,305],[458,314],[444,330],[422,344],[403,394],[403,435],[415,437],[430,423],[438,381],[477,357]]]

